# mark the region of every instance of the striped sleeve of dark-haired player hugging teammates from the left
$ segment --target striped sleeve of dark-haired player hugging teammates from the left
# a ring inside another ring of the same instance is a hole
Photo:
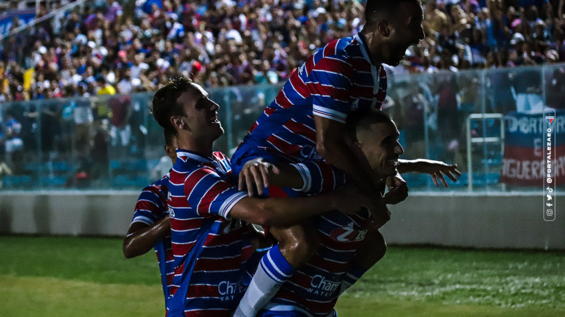
[[[186,177],[184,193],[190,206],[202,217],[228,218],[233,206],[247,196],[207,166],[201,166]]]

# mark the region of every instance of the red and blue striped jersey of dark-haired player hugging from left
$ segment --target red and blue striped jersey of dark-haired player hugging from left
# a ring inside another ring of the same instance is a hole
[[[247,226],[229,212],[247,193],[227,182],[231,164],[222,153],[204,157],[177,149],[177,157],[167,200],[175,259],[171,293],[186,285],[182,272],[194,265],[184,301],[186,316],[229,316],[247,289],[241,267],[253,252]],[[209,231],[203,229],[207,223],[213,223]],[[203,242],[196,245],[199,239]],[[189,253],[194,263],[185,261]]]

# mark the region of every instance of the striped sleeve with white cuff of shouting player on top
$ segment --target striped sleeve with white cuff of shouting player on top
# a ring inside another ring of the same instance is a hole
[[[347,57],[330,55],[320,59],[312,68],[307,85],[314,115],[345,124],[351,109],[352,77],[353,67]]]

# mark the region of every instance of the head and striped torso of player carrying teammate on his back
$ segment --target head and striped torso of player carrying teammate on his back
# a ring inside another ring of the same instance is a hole
[[[396,175],[403,148],[392,119],[381,111],[349,117],[349,146],[371,166],[370,179],[383,183]],[[344,215],[337,211],[315,217],[322,242],[316,255],[299,267],[259,316],[336,316],[338,296],[356,281],[351,272],[364,272],[385,253],[381,233],[370,226],[370,213]],[[365,239],[373,243],[367,248]],[[357,259],[361,258],[361,259]],[[363,263],[363,267],[354,267]]]

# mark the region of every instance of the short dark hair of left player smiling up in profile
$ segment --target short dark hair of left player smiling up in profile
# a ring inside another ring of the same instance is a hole
[[[182,93],[189,90],[192,83],[192,80],[187,77],[173,77],[153,95],[151,113],[160,126],[175,131],[175,127],[171,124],[171,117],[183,115],[182,105],[178,104],[177,99]]]

